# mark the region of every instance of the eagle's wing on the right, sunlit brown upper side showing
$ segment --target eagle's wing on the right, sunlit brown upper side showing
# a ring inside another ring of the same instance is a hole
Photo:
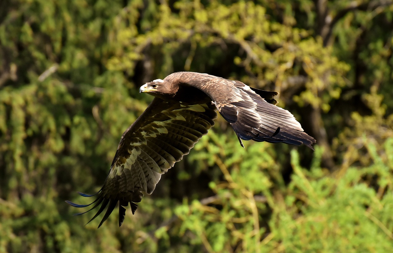
[[[200,74],[202,82],[190,82],[209,95],[221,116],[243,140],[304,144],[312,148],[316,141],[306,134],[295,117],[278,106],[278,93],[250,88],[240,81],[231,81],[208,74]],[[261,95],[264,97],[261,97]]]

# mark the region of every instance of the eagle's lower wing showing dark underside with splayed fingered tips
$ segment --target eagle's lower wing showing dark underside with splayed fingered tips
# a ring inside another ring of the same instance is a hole
[[[101,204],[90,221],[108,206],[98,227],[119,202],[121,226],[124,207],[130,203],[134,214],[138,207],[136,203],[143,197],[142,192],[151,194],[154,191],[161,175],[189,153],[214,125],[216,117],[214,105],[185,105],[154,98],[121,137],[110,172],[103,187],[96,193],[98,196],[94,202],[88,205],[67,202],[74,207],[87,207],[95,203],[90,210]],[[80,194],[86,197],[95,195]]]

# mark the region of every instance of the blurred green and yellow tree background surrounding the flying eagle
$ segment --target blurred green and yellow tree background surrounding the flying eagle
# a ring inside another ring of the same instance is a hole
[[[390,252],[393,1],[1,0],[0,252]],[[317,140],[222,118],[123,226],[90,203],[145,82],[209,73],[279,92]],[[86,209],[87,210],[87,209]]]

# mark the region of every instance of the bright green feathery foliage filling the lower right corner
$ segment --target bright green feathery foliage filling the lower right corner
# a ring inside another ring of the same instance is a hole
[[[371,165],[333,174],[321,169],[320,148],[309,171],[299,165],[298,151],[292,150],[294,173],[288,186],[272,178],[274,169],[270,174],[272,168],[266,161],[256,165],[260,170],[253,169],[255,164],[241,163],[242,178],[257,178],[258,184],[237,180],[240,163],[232,164],[228,172],[223,159],[237,156],[237,150],[222,158],[215,156],[226,181],[210,184],[217,195],[208,205],[193,201],[177,207],[182,231],[191,231],[196,237],[193,242],[209,252],[389,251],[393,248],[389,212],[393,200],[384,192],[393,190],[393,139],[382,145],[389,156],[376,155],[373,144],[367,147],[375,159]],[[249,150],[245,159],[264,151],[263,147]],[[375,179],[370,182],[370,177]],[[267,233],[260,225],[268,212]]]

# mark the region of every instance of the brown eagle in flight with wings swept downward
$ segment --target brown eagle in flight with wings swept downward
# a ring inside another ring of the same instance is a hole
[[[217,111],[229,122],[242,147],[242,140],[304,144],[311,149],[316,142],[290,112],[276,106],[278,92],[258,90],[240,81],[176,72],[144,84],[139,91],[154,99],[121,136],[103,187],[93,195],[78,192],[97,197],[87,205],[66,201],[73,207],[94,204],[88,211],[99,207],[90,221],[108,207],[98,227],[118,203],[119,226],[129,203],[134,214],[143,192],[151,194],[161,175],[213,127]]]

